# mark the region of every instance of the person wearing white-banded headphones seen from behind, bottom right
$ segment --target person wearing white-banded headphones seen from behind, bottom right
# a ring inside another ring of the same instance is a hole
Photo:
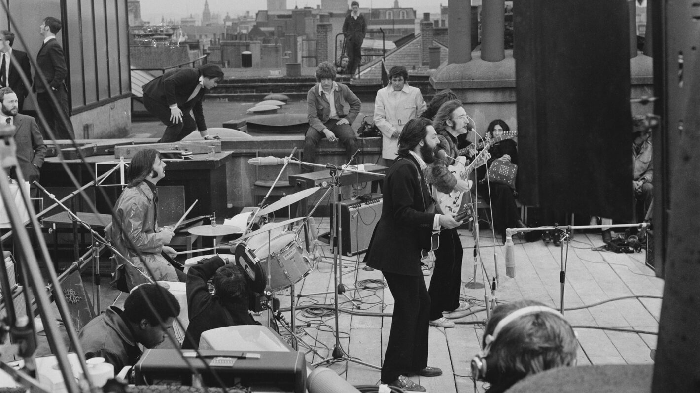
[[[484,329],[483,350],[471,361],[472,378],[500,393],[526,376],[573,366],[576,334],[563,315],[538,301],[522,300],[493,309]]]

